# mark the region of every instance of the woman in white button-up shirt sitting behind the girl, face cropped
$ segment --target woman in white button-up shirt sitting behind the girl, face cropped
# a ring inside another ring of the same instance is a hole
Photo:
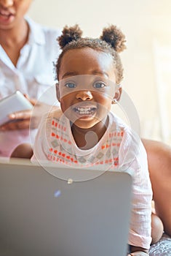
[[[0,99],[19,90],[34,105],[54,83],[53,61],[60,53],[56,42],[60,31],[25,18],[31,2],[0,0]],[[31,110],[12,113],[9,118],[12,122],[0,127],[0,157],[9,157],[18,144],[30,142]],[[35,134],[32,129],[32,139]]]

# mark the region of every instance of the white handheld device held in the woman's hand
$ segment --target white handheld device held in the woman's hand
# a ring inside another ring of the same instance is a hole
[[[14,94],[0,100],[0,126],[12,121],[9,119],[9,114],[22,110],[31,110],[32,108],[31,102],[20,91],[15,91]]]

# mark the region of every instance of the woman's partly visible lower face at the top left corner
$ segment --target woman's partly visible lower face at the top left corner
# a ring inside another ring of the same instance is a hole
[[[20,24],[32,0],[0,0],[0,29],[12,29]]]

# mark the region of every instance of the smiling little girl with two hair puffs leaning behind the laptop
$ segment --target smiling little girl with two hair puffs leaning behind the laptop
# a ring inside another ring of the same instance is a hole
[[[79,26],[65,26],[58,38],[57,99],[62,112],[43,118],[33,152],[76,167],[132,171],[130,255],[148,255],[151,244],[151,182],[146,151],[138,135],[111,112],[122,94],[119,52],[125,37],[116,26],[100,39],[82,38]]]

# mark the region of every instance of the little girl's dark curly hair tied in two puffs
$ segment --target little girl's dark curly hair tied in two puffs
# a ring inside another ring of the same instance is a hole
[[[123,78],[123,67],[119,53],[126,48],[126,39],[124,34],[122,34],[122,31],[116,26],[111,25],[108,28],[103,29],[103,33],[99,39],[89,37],[84,38],[81,37],[81,35],[82,31],[76,24],[72,27],[65,26],[62,35],[57,38],[60,48],[63,50],[55,64],[57,80],[59,80],[61,60],[68,50],[92,48],[111,55],[116,69],[116,83],[119,84]]]

